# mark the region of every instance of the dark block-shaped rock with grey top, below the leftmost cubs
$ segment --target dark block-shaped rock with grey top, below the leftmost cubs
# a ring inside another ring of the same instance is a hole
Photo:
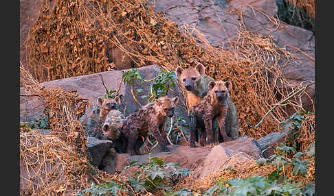
[[[95,167],[100,167],[102,159],[109,154],[112,142],[110,140],[99,140],[94,137],[87,137],[87,147],[91,164]]]

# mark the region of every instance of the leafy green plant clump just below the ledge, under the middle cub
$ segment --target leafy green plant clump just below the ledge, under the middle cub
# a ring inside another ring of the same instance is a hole
[[[129,183],[135,193],[141,193],[144,188],[151,193],[158,190],[169,192],[171,186],[189,174],[188,169],[182,169],[176,162],[165,164],[162,158],[151,158],[151,156],[148,162],[139,164],[138,168],[141,171],[129,177]]]

